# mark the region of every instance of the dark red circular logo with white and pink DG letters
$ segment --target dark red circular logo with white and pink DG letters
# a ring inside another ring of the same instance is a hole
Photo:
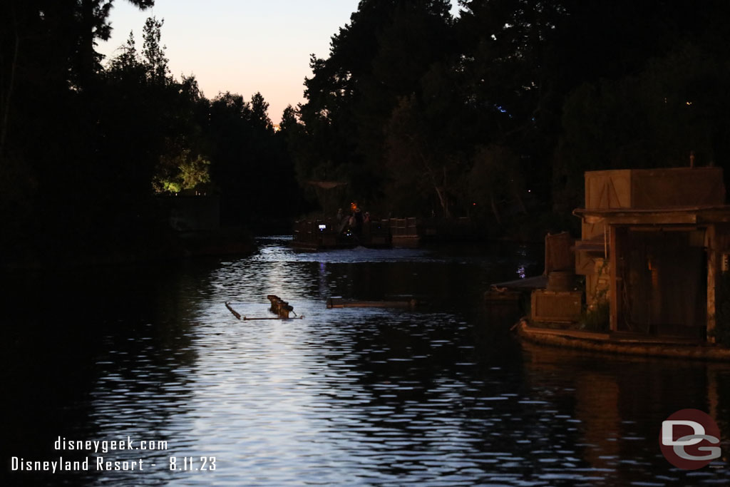
[[[661,422],[659,448],[675,467],[700,469],[720,458],[720,429],[707,413],[679,410]]]

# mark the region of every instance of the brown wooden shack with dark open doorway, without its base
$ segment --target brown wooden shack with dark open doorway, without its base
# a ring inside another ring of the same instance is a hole
[[[611,331],[711,340],[730,253],[723,169],[586,172],[585,208],[574,214],[588,310],[608,302]]]

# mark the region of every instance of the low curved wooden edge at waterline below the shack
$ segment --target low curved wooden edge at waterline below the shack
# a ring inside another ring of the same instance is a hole
[[[614,355],[730,361],[730,348],[717,345],[675,345],[640,340],[618,341],[611,340],[610,335],[606,333],[541,329],[530,326],[525,320],[518,322],[516,331],[523,340],[538,345]]]

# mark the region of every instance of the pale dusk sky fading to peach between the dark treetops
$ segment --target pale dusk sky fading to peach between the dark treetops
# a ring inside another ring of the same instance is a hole
[[[304,101],[310,54],[326,58],[329,42],[350,22],[358,0],[156,0],[140,11],[118,0],[110,15],[112,38],[99,42],[107,55],[134,31],[142,48],[145,19],[164,19],[162,43],[175,77],[194,74],[205,96],[260,91],[269,117],[279,123],[284,108]]]

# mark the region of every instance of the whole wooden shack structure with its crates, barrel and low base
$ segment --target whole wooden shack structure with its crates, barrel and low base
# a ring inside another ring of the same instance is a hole
[[[725,195],[720,167],[586,172],[580,239],[548,234],[543,275],[485,302],[517,310],[529,293],[516,329],[542,345],[727,361]]]

